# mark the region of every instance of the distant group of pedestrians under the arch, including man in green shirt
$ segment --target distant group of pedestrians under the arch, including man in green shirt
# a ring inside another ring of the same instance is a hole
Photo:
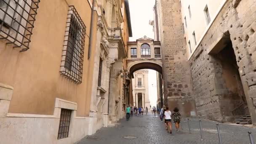
[[[130,120],[130,116],[132,117],[133,114],[135,116],[143,115],[144,111],[146,112],[146,115],[147,115],[147,113],[148,113],[147,107],[144,109],[143,107],[139,107],[139,108],[133,107],[132,108],[132,107],[127,106],[126,107],[126,120],[127,121]]]

